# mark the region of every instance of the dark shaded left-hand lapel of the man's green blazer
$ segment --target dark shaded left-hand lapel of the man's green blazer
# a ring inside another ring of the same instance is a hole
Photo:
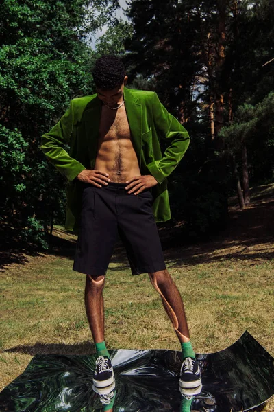
[[[88,146],[88,155],[90,158],[90,165],[92,167],[95,165],[95,159],[97,155],[101,110],[101,101],[96,96],[87,105],[83,113],[86,144]]]

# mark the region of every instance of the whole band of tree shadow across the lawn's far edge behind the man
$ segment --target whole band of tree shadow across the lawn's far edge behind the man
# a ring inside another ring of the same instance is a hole
[[[274,247],[269,247],[269,244],[274,244],[274,201],[269,190],[273,188],[269,189],[267,186],[265,190],[261,190],[260,187],[254,188],[250,207],[240,210],[238,206],[231,206],[227,227],[221,229],[219,233],[207,234],[199,240],[191,237],[183,225],[172,225],[169,222],[160,225],[159,233],[166,263],[176,267],[216,262],[221,259],[247,261],[274,259]],[[77,237],[71,233],[55,229],[51,236],[49,251],[41,252],[34,244],[22,245],[17,242],[16,233],[5,233],[0,271],[14,263],[26,264],[28,256],[40,253],[73,260],[76,240]],[[221,254],[214,251],[221,251]],[[116,244],[111,262],[118,266],[109,268],[110,271],[129,268],[121,241]]]

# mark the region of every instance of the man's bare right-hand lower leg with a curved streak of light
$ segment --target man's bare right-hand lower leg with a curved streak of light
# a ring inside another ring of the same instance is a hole
[[[184,312],[184,304],[177,286],[167,270],[149,273],[151,283],[160,293],[162,303],[180,342],[190,341],[188,323]]]

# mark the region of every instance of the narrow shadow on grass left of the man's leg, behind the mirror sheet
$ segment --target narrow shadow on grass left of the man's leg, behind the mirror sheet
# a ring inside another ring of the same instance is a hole
[[[16,354],[47,354],[47,355],[90,355],[95,352],[95,345],[90,342],[75,343],[67,345],[66,343],[35,343],[34,345],[14,346],[5,349],[3,352]]]

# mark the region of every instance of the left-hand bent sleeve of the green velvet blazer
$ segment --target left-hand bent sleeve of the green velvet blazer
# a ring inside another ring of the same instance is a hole
[[[55,168],[68,179],[73,181],[75,177],[86,169],[82,163],[73,159],[66,150],[64,144],[71,144],[73,132],[73,101],[59,122],[53,126],[49,133],[42,135],[40,149]]]

